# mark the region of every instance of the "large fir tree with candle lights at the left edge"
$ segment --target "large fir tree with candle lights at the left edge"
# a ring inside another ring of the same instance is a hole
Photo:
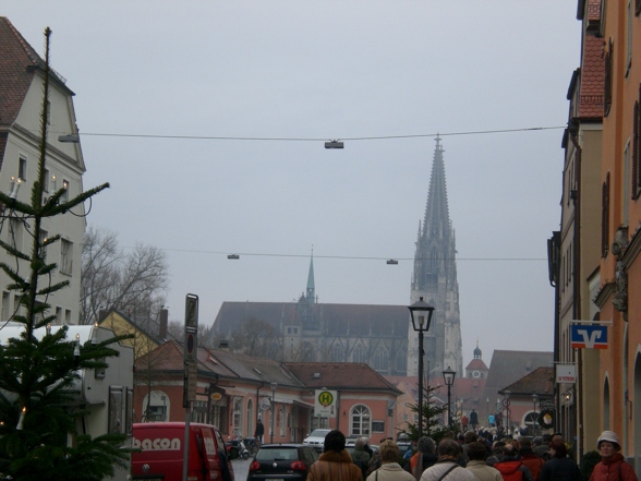
[[[2,224],[9,219],[23,223],[31,235],[28,253],[0,241],[8,253],[5,258],[11,258],[0,263],[0,268],[11,278],[7,289],[20,297],[23,313],[14,313],[11,317],[23,327],[21,336],[0,346],[0,478],[93,481],[112,476],[116,465],[126,466],[129,454],[121,449],[125,435],[92,438],[78,434],[77,420],[86,411],[74,406],[78,395],[74,386],[82,370],[107,368],[105,359],[118,356],[110,345],[121,338],[80,346],[75,339],[66,338],[66,327],[47,327],[56,321],[56,316],[49,314],[48,297],[65,288],[69,281],[51,284],[50,274],[57,264],[46,262],[45,249],[58,242],[60,236],[41,238],[41,221],[66,213],[109,184],[71,200],[65,200],[63,188],[43,201],[50,35],[47,28],[38,179],[31,192],[31,203],[19,202],[15,195],[0,192]]]

